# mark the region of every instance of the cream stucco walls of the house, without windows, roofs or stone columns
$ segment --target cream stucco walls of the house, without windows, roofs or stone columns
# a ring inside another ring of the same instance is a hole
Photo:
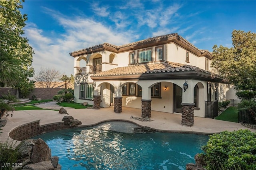
[[[153,61],[155,61],[155,49],[156,47],[152,47],[152,58]],[[89,55],[81,56],[81,57],[75,57],[74,58],[74,66],[75,66],[75,73],[76,73],[76,67],[80,66],[81,59],[85,59],[87,61],[87,71],[89,71],[90,65],[92,65],[92,59],[94,57],[100,57],[102,56],[102,71],[110,70],[112,68],[116,67],[122,67],[122,66],[128,66],[129,65],[129,53],[135,51],[135,57],[138,58],[138,50],[131,50],[126,51],[123,53],[113,53],[110,51],[100,51],[98,53],[91,53]],[[171,61],[174,63],[181,63],[181,64],[189,64],[193,66],[197,66],[199,68],[205,69],[205,57],[198,57],[194,53],[189,52],[189,63],[186,62],[186,49],[183,47],[176,45],[175,43],[168,43],[164,45],[164,51],[163,51],[163,57],[164,61]],[[110,63],[110,56],[114,56],[113,62]],[[137,60],[136,60],[137,62]],[[210,66],[211,61],[209,62]],[[215,72],[213,68],[209,68],[210,71]],[[85,82],[84,80],[80,80],[80,82]],[[93,82],[90,79],[90,76],[88,77],[88,80],[86,82]],[[122,96],[122,85],[127,82],[133,82],[139,84],[143,90],[142,90],[142,97],[137,96]],[[151,98],[150,95],[150,88],[158,83],[161,82],[161,98]],[[177,84],[183,89],[183,84],[185,80],[129,80],[129,81],[110,81],[110,82],[96,82],[96,89],[94,90],[94,95],[100,95],[102,96],[102,106],[103,107],[109,107],[110,106],[110,84],[112,84],[115,88],[115,94],[114,97],[122,97],[122,106],[127,107],[135,107],[135,108],[141,108],[141,100],[152,100],[151,102],[151,108],[152,110],[156,111],[164,111],[168,113],[173,113],[173,84]],[[110,84],[109,84],[110,83]],[[188,80],[188,89],[186,92],[183,91],[182,93],[182,102],[191,104],[194,102],[194,86],[199,83],[199,108],[194,110],[195,116],[204,117],[204,101],[207,100],[207,82],[204,81],[198,81],[198,80]],[[102,92],[100,92],[100,86],[102,89]],[[167,90],[164,90],[164,86],[167,86]],[[78,96],[75,98],[75,102],[82,103],[82,102],[88,102],[88,104],[93,104],[93,101],[90,100],[80,100],[79,99],[79,85],[75,83],[74,87],[75,96]],[[212,93],[212,101],[214,101],[214,87],[212,83],[211,88]],[[225,84],[220,84],[218,86],[218,100],[221,102],[228,98],[234,98],[236,99],[236,96],[234,96],[234,90],[231,86],[227,87]]]

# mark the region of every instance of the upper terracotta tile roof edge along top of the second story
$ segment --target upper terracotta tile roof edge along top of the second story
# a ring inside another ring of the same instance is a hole
[[[97,48],[97,47],[103,47],[103,46],[109,46],[109,47],[113,47],[115,49],[121,49],[121,48],[124,48],[124,47],[129,47],[129,46],[132,46],[132,45],[138,45],[138,44],[142,44],[142,43],[146,43],[146,42],[149,42],[149,41],[155,41],[155,40],[159,40],[159,39],[163,39],[163,38],[166,38],[166,37],[178,37],[184,41],[186,41],[186,43],[190,44],[191,46],[193,46],[194,48],[196,48],[198,51],[200,51],[201,53],[206,53],[207,50],[200,50],[198,49],[196,46],[194,46],[193,44],[191,44],[188,40],[184,39],[182,36],[178,35],[178,33],[171,33],[171,34],[166,34],[166,35],[160,35],[160,36],[156,36],[156,37],[149,37],[147,39],[143,39],[143,40],[140,40],[140,41],[136,41],[136,42],[133,42],[133,43],[129,43],[129,44],[125,44],[125,45],[112,45],[110,43],[103,43],[103,44],[99,44],[99,45],[94,45],[92,47],[88,47],[86,49],[80,49],[78,51],[73,51],[71,53],[69,53],[70,55],[72,55],[73,53],[78,53],[78,52],[81,52],[81,51],[88,51],[90,49],[94,49],[94,48]]]

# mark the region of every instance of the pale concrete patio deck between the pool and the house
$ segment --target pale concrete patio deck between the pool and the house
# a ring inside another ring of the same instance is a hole
[[[50,104],[46,106],[49,105]],[[46,108],[46,106],[41,105],[40,107]],[[53,104],[50,107],[53,107]],[[59,108],[60,106],[58,105],[54,106],[54,109]],[[150,119],[152,119],[153,121],[138,121],[135,119],[131,119],[130,117],[141,117],[141,109],[135,109],[130,107],[122,107],[122,113],[114,113],[113,107],[101,109],[66,109],[69,115],[73,116],[74,119],[78,119],[82,122],[82,125],[80,126],[96,125],[100,122],[110,120],[124,120],[134,122],[141,126],[148,126],[163,132],[212,134],[219,133],[221,131],[249,129],[242,126],[240,123],[221,121],[203,117],[194,117],[194,125],[192,127],[187,127],[181,124],[180,114],[166,113],[160,111],[151,111]],[[38,120],[40,120],[40,126],[62,122],[62,118],[65,115],[66,114],[59,114],[58,111],[52,110],[14,111],[13,117],[2,118],[7,120],[7,124],[5,127],[2,127],[3,130],[0,134],[0,141],[6,141],[9,137],[9,132],[16,127]],[[256,132],[255,129],[249,130]]]

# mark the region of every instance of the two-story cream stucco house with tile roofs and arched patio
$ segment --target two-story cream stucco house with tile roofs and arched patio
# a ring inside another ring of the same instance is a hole
[[[116,46],[103,43],[70,53],[74,57],[74,102],[94,108],[122,106],[181,113],[182,124],[204,117],[205,101],[226,98],[228,80],[212,73],[212,54],[177,33]],[[84,63],[82,66],[81,63]],[[190,120],[191,119],[191,120]]]

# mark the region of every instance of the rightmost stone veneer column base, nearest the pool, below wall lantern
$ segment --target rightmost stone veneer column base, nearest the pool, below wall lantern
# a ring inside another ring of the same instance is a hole
[[[186,126],[194,125],[194,103],[181,103],[182,120],[181,124]]]

